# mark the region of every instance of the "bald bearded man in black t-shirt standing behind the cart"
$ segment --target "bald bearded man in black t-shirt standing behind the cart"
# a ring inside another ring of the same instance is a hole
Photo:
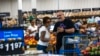
[[[72,35],[75,31],[74,23],[70,20],[70,18],[65,18],[64,13],[62,11],[57,12],[58,22],[54,26],[54,34],[57,35],[57,44],[56,51],[59,54],[59,50],[62,46],[62,38],[65,35]],[[67,47],[68,46],[68,47]],[[67,49],[72,48],[73,45],[68,44],[66,46]]]

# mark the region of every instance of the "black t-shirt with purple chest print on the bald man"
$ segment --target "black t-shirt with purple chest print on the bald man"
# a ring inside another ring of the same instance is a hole
[[[57,22],[54,26],[53,32],[57,32],[58,27],[63,27],[64,29],[70,29],[74,28],[74,23],[70,20],[70,18],[66,18],[62,22]],[[62,37],[64,35],[71,35],[73,33],[66,33],[66,32],[61,32],[57,34],[57,37]]]

